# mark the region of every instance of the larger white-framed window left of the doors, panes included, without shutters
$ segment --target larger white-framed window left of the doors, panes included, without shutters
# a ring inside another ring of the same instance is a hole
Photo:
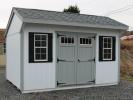
[[[48,60],[48,35],[35,34],[34,35],[34,60],[47,61]]]

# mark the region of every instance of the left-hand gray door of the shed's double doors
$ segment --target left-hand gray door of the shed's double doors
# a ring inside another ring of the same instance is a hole
[[[59,37],[58,45],[58,84],[76,84],[75,36],[73,34],[63,34],[63,37]]]

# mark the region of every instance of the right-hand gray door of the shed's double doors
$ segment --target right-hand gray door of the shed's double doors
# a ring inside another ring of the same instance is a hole
[[[77,58],[77,84],[92,82],[94,80],[94,38],[89,35],[78,35]]]

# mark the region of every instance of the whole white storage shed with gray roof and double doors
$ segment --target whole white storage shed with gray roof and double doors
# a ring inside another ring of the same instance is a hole
[[[116,85],[127,29],[104,16],[13,8],[6,78],[22,93]]]

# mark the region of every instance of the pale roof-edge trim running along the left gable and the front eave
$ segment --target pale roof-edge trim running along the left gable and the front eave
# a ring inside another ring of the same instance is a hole
[[[89,24],[80,22],[65,22],[65,21],[55,21],[55,20],[44,20],[44,19],[32,19],[22,17],[15,8],[12,9],[11,15],[6,27],[5,37],[7,36],[8,29],[10,27],[13,15],[16,14],[24,23],[37,23],[37,24],[48,24],[48,25],[64,25],[64,26],[75,26],[75,27],[88,27],[88,28],[102,28],[102,29],[116,29],[121,31],[128,30],[128,26],[113,26],[113,25],[100,25],[100,24]]]

